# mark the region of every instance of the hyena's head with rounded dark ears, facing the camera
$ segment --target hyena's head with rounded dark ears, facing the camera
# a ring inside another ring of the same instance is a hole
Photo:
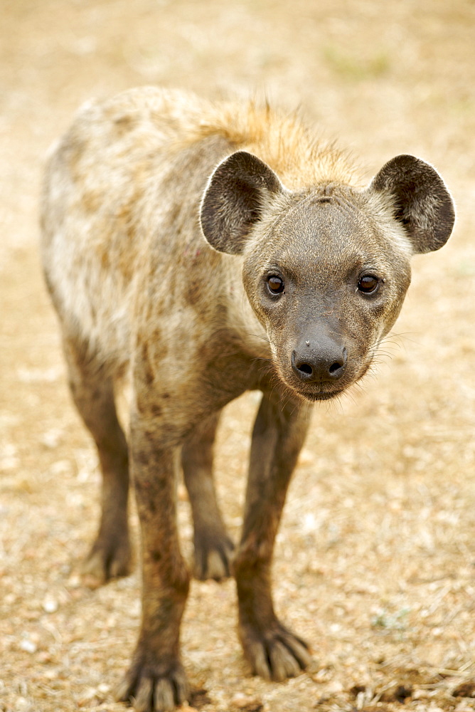
[[[325,400],[360,379],[397,318],[410,256],[437,250],[452,199],[429,164],[397,156],[367,189],[292,192],[238,151],[210,177],[201,225],[216,250],[242,255],[242,281],[287,387]]]

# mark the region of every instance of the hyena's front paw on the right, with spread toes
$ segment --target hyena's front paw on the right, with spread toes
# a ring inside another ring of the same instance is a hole
[[[240,639],[252,671],[266,680],[282,682],[295,677],[311,661],[306,642],[278,620],[265,631],[241,624]]]

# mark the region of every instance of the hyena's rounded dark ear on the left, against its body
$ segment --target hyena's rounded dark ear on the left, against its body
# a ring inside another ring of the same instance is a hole
[[[272,194],[283,192],[272,168],[247,151],[237,151],[218,165],[201,203],[201,227],[219,252],[238,255]]]

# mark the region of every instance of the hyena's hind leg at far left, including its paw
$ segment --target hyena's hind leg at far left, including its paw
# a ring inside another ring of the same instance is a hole
[[[112,376],[74,342],[65,340],[64,351],[71,393],[97,446],[102,471],[99,531],[82,565],[85,582],[95,587],[110,578],[126,576],[131,569],[127,518],[129,455],[117,419]]]

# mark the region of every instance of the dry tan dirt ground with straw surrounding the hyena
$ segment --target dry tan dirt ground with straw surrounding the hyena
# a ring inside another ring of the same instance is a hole
[[[190,706],[475,709],[474,36],[470,0],[2,0],[1,711],[124,709],[113,689],[135,643],[139,575],[98,590],[78,576],[99,474],[39,268],[38,185],[78,105],[149,83],[300,106],[368,179],[413,153],[458,208],[449,244],[413,262],[377,376],[315,409],[274,564],[277,609],[314,663],[287,684],[250,676],[233,582],[193,582]],[[256,402],[228,407],[220,431],[235,539]],[[179,515],[191,555],[184,495]]]

